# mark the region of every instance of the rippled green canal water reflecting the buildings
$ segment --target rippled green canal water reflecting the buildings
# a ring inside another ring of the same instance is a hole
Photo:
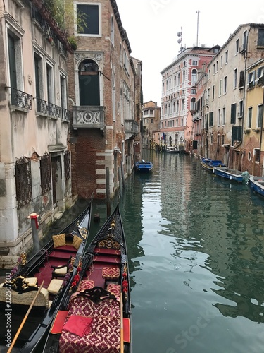
[[[120,199],[133,353],[264,352],[264,199],[195,157],[143,157]]]

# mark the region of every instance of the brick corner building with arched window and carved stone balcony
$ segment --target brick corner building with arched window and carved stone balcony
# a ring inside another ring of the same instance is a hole
[[[130,56],[115,0],[73,5],[87,22],[75,27],[77,49],[68,59],[73,193],[112,197],[140,155],[142,62]]]

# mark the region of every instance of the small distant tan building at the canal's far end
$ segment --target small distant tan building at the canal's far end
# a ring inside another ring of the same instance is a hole
[[[154,131],[159,132],[161,122],[161,107],[152,100],[143,104],[142,107],[142,147],[150,148],[155,142]],[[159,138],[158,138],[159,140]],[[158,141],[157,141],[158,142]]]

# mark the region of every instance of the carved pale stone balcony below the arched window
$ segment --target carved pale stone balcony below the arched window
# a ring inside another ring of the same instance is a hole
[[[104,128],[104,107],[73,107],[73,128]]]

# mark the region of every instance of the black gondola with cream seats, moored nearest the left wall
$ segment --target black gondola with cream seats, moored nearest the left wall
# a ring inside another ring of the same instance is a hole
[[[92,201],[30,261],[6,274],[0,285],[1,352],[39,352],[87,246]],[[6,328],[6,333],[5,329]]]

